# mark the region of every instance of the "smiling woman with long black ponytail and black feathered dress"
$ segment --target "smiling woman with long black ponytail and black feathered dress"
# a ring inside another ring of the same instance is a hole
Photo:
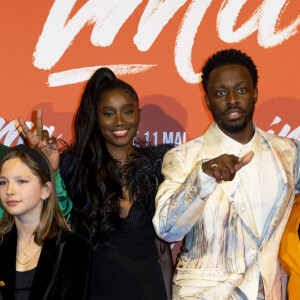
[[[101,68],[81,98],[75,142],[61,155],[74,230],[94,245],[92,299],[171,298],[170,248],[152,226],[170,146],[134,146],[139,121],[135,90]]]

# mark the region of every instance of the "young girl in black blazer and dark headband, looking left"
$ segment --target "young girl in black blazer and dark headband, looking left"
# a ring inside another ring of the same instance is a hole
[[[0,198],[3,300],[89,299],[92,248],[69,231],[42,152],[19,145],[4,155]]]

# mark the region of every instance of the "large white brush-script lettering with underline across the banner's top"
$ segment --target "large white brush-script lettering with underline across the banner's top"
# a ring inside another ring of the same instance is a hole
[[[290,0],[264,0],[240,28],[234,30],[239,13],[247,0],[224,0],[217,15],[216,29],[226,43],[237,43],[258,31],[258,44],[274,47],[298,32],[300,16],[291,24],[276,31]],[[91,42],[98,47],[110,46],[117,33],[142,0],[89,0],[68,20],[76,0],[56,0],[50,10],[34,52],[34,66],[51,69],[70,47],[72,41],[87,23],[94,24]],[[133,42],[139,51],[148,51],[166,24],[187,0],[149,0],[141,16]],[[192,0],[178,30],[175,42],[175,65],[179,75],[188,83],[200,82],[194,72],[192,48],[195,36],[212,0]],[[130,74],[130,66],[140,66],[135,72],[144,72],[154,65],[113,65],[117,75]],[[73,69],[49,76],[49,85],[58,86],[87,80],[97,67]],[[123,71],[122,71],[123,70]],[[120,72],[120,73],[118,73]],[[123,73],[122,73],[123,72]]]

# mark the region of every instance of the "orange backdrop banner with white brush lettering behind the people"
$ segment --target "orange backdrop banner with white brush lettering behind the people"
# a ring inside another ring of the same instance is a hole
[[[2,0],[0,142],[21,142],[16,118],[44,112],[50,134],[70,142],[92,73],[111,68],[138,92],[139,136],[186,142],[212,121],[200,72],[225,48],[259,73],[255,122],[300,138],[298,0]]]

